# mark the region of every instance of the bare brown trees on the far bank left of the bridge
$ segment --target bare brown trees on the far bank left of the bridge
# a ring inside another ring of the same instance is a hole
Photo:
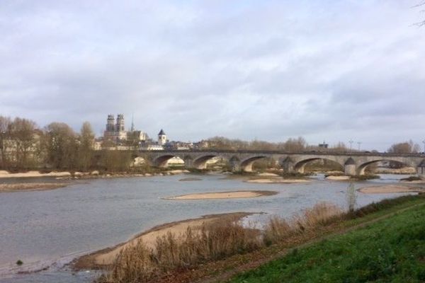
[[[40,129],[33,120],[0,115],[0,169],[67,171],[126,171],[131,152],[94,150],[95,134],[89,122],[75,132],[63,122]],[[109,145],[108,145],[109,146]]]

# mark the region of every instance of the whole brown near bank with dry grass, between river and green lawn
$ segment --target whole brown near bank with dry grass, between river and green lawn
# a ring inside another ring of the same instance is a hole
[[[424,195],[405,196],[370,204],[348,214],[341,214],[332,205],[319,204],[292,219],[273,218],[264,231],[246,229],[234,221],[205,225],[202,233],[188,230],[182,235],[169,234],[159,238],[153,250],[147,249],[143,243],[128,248],[98,282],[168,283],[204,282],[205,277],[228,279],[227,273],[234,275],[252,269],[287,254],[291,248],[300,248],[333,233],[344,233],[400,209],[424,203]],[[351,244],[357,249],[357,243]],[[251,275],[247,276],[243,278]],[[253,280],[268,282],[256,277]]]

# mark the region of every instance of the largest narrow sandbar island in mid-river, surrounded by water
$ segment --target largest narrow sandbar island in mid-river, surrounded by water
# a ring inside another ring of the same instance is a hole
[[[262,197],[276,195],[278,192],[270,190],[239,190],[232,192],[202,192],[198,194],[178,195],[176,197],[165,197],[164,200],[218,200],[236,199],[249,197]]]

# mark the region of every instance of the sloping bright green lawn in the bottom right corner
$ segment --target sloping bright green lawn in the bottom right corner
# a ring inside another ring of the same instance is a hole
[[[229,282],[425,282],[425,205],[293,250]]]

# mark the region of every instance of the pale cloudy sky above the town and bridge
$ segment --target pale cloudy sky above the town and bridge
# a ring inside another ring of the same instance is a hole
[[[419,0],[1,0],[0,115],[170,140],[425,139]],[[357,144],[356,144],[357,146]]]

